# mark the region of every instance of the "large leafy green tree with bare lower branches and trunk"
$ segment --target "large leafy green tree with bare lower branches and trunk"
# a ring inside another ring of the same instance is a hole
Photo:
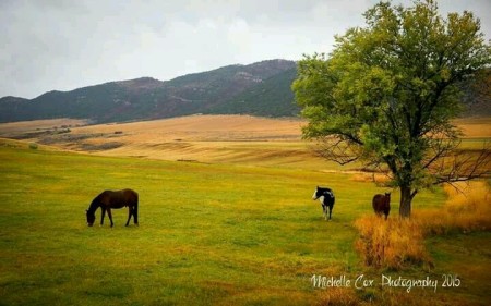
[[[491,47],[471,12],[443,19],[433,0],[380,2],[363,16],[367,26],[336,36],[331,54],[304,56],[292,90],[303,136],[325,158],[386,171],[400,188],[399,215],[410,217],[420,189],[489,171],[489,149],[455,154],[451,120],[463,109],[460,82],[490,66]]]

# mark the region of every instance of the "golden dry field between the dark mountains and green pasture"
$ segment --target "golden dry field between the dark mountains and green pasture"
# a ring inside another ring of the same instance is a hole
[[[0,137],[101,156],[338,170],[301,139],[303,124],[295,118],[250,115],[190,115],[97,125],[56,119],[3,123]],[[491,118],[459,119],[455,124],[469,148],[479,145],[476,140],[491,138]]]

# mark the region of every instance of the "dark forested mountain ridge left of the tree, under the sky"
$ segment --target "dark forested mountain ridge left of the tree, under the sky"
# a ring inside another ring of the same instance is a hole
[[[0,99],[0,122],[75,118],[101,123],[228,111],[291,115],[298,113],[290,90],[294,75],[295,62],[270,60],[228,65],[167,82],[142,77],[71,91],[49,91],[32,100],[4,97]]]

